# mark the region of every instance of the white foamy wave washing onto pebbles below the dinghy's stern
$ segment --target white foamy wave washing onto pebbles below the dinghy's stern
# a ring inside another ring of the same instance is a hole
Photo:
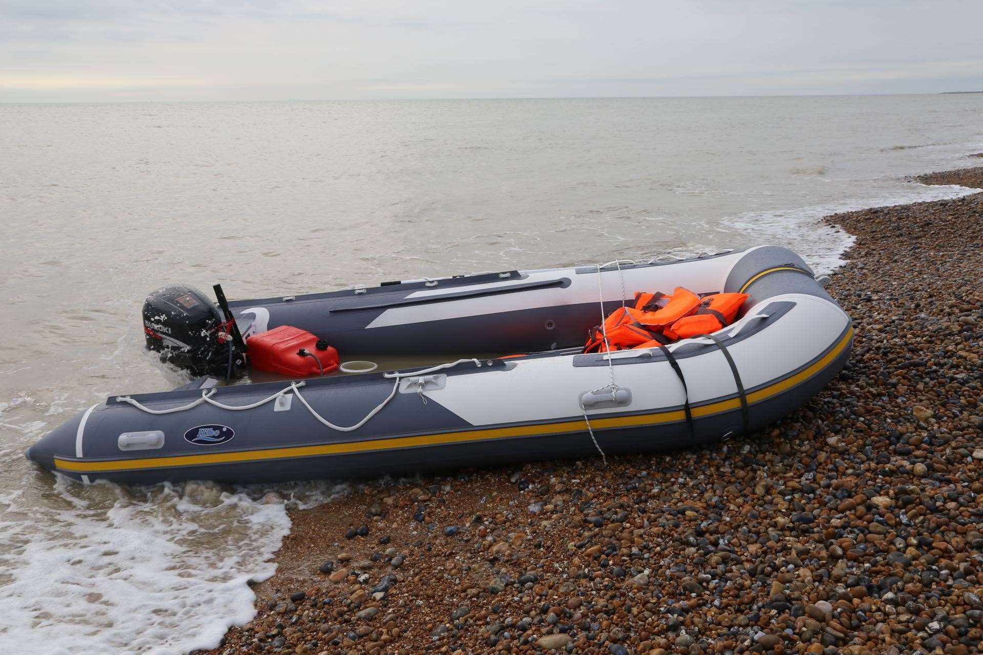
[[[0,498],[0,652],[178,655],[217,646],[255,614],[249,583],[275,571],[287,503],[312,506],[341,489],[127,489],[59,478],[47,503],[8,494]]]

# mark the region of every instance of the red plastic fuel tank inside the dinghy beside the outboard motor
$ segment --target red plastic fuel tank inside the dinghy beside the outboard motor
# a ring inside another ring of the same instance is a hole
[[[249,347],[250,365],[269,373],[310,377],[338,367],[338,352],[328,346],[327,342],[318,341],[318,337],[307,330],[289,325],[253,335],[246,345]],[[299,355],[301,349],[316,355],[318,359],[311,355]]]

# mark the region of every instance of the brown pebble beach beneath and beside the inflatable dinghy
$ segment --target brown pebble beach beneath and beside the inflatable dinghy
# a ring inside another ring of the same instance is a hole
[[[803,408],[716,447],[292,511],[256,618],[205,652],[974,652],[983,191],[824,222],[855,237],[830,292],[857,336]]]

